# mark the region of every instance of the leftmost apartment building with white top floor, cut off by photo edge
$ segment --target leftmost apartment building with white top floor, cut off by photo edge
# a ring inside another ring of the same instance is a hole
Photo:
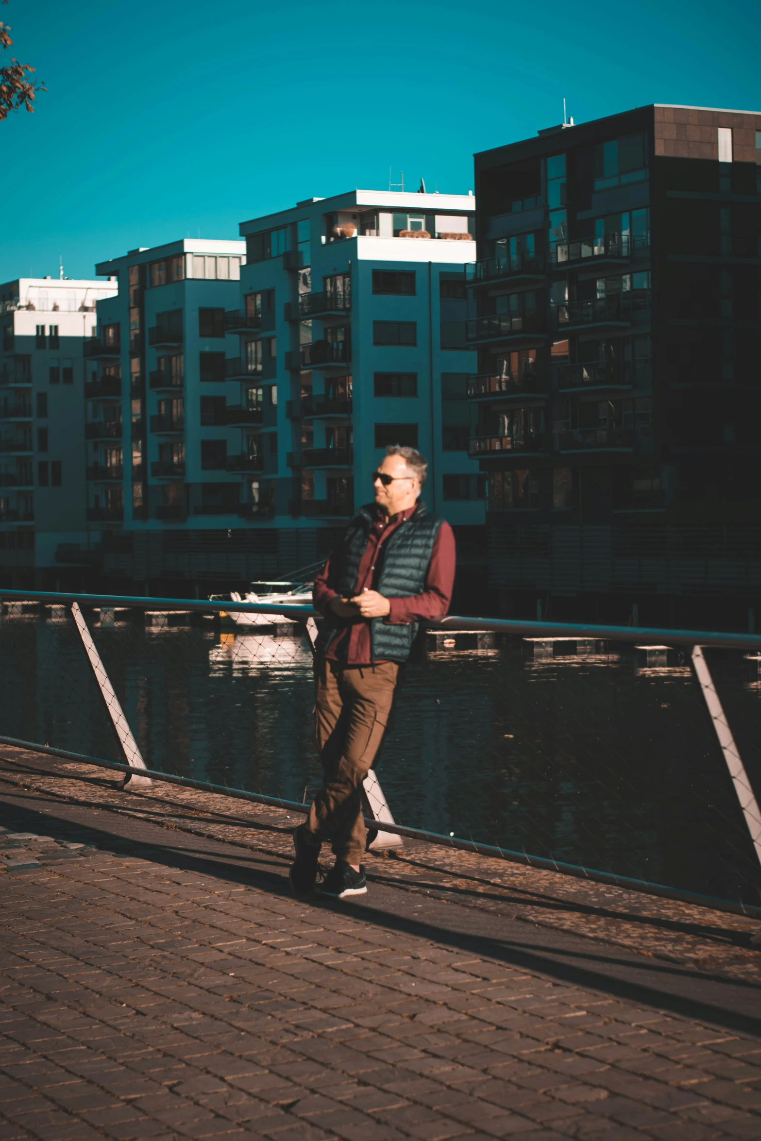
[[[84,345],[113,282],[0,284],[0,582],[66,582],[88,545]],[[79,581],[79,580],[78,580]]]

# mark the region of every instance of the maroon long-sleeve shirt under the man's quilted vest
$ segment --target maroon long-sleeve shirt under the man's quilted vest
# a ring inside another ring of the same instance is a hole
[[[377,580],[380,574],[378,555],[380,547],[402,523],[410,518],[414,510],[414,507],[412,507],[407,511],[400,511],[398,515],[391,516],[390,519],[380,509],[377,510],[375,519],[367,539],[367,545],[359,560],[354,594],[361,594],[363,590],[378,589]],[[327,607],[334,598],[341,597],[334,589],[337,572],[332,567],[332,557],[329,558],[315,578],[313,600],[315,609],[319,610],[321,614],[326,613]],[[383,621],[397,625],[406,622],[431,622],[444,617],[452,599],[454,567],[454,533],[448,523],[443,523],[434,540],[434,548],[426,575],[426,589],[422,594],[412,594],[407,598],[389,598],[391,610]],[[343,665],[371,665],[371,620],[362,618],[357,615],[356,618],[339,618],[338,621],[341,623],[341,629],[331,642],[326,656],[333,661],[341,662]],[[375,661],[381,659],[377,658]]]

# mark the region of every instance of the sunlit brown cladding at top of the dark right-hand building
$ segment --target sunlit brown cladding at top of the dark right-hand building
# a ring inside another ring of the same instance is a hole
[[[761,114],[658,106],[654,112],[656,155],[715,161],[719,157],[717,127],[731,127],[732,160],[755,162],[755,132],[761,131]]]

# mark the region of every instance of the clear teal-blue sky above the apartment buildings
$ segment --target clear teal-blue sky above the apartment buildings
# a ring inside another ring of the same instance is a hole
[[[758,0],[10,0],[48,91],[0,123],[0,282],[355,186],[467,193],[472,154],[648,103],[761,108]],[[9,54],[6,52],[6,56]]]

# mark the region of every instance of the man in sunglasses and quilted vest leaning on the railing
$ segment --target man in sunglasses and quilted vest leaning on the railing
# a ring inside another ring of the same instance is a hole
[[[375,502],[359,508],[315,580],[324,616],[316,645],[315,722],[323,786],[293,835],[291,888],[308,895],[323,841],[335,865],[321,891],[367,890],[362,782],[388,726],[399,671],[420,622],[443,617],[454,583],[454,535],[420,500],[428,464],[413,447],[388,447],[373,472]]]

